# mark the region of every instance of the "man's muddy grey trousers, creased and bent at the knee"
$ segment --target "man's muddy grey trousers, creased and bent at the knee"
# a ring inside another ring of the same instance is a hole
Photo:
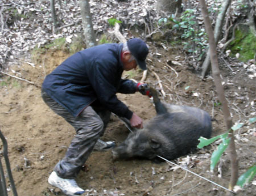
[[[63,117],[76,130],[76,135],[64,158],[53,169],[61,178],[76,178],[98,138],[104,134],[111,113],[102,106],[88,106],[78,117],[73,117],[67,109],[49,97],[43,90],[42,98],[53,112]]]

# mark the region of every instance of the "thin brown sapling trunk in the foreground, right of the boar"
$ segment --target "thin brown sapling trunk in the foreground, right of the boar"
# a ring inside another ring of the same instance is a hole
[[[213,80],[216,86],[216,90],[218,93],[218,99],[221,101],[222,110],[224,113],[224,121],[226,123],[226,129],[229,130],[232,127],[232,118],[229,113],[228,103],[225,98],[224,88],[221,84],[220,78],[220,69],[218,68],[218,56],[216,51],[216,42],[214,41],[214,35],[212,31],[212,26],[210,23],[207,6],[205,5],[204,0],[200,0],[201,10],[204,18],[205,30],[207,31],[209,38],[209,46],[210,46],[210,61],[212,63],[212,73]],[[234,185],[236,185],[238,179],[238,160],[236,153],[236,146],[234,143],[234,133],[233,130],[229,133],[230,144],[229,144],[229,155],[231,160],[231,177],[229,182],[229,189],[232,190]]]

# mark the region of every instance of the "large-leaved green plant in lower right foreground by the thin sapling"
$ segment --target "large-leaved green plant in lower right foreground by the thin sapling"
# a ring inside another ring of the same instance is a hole
[[[249,119],[250,123],[256,122],[256,117]],[[236,131],[240,129],[243,126],[243,123],[238,123],[237,125],[233,126],[231,129],[233,131]],[[203,148],[205,146],[208,146],[209,144],[215,142],[218,139],[221,139],[222,142],[218,145],[217,150],[215,150],[212,154],[212,157],[210,159],[210,171],[213,171],[213,169],[216,167],[218,161],[220,160],[221,155],[223,152],[225,152],[226,148],[229,146],[230,138],[228,137],[229,131],[226,133],[217,135],[216,137],[205,139],[203,137],[199,138],[200,143],[197,145],[197,148]],[[256,165],[254,164],[252,167],[250,167],[245,173],[242,174],[237,180],[237,186],[240,186],[241,188],[248,184],[251,180],[253,180],[253,177],[256,174]]]

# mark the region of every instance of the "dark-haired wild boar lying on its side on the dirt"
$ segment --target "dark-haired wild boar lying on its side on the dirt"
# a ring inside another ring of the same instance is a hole
[[[210,137],[212,122],[207,112],[191,106],[161,103],[158,92],[153,88],[150,92],[157,115],[115,147],[113,159],[155,159],[159,155],[172,160],[195,149],[201,136]]]

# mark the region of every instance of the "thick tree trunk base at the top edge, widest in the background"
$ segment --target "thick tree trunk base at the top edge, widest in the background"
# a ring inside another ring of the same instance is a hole
[[[160,11],[165,11],[170,14],[175,14],[176,10],[181,13],[181,0],[158,0],[156,2],[156,10],[160,14]]]

